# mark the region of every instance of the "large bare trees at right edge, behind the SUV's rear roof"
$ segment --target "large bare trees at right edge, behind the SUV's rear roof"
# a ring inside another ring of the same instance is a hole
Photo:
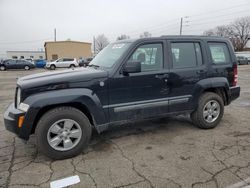
[[[221,36],[229,38],[235,51],[242,51],[250,39],[250,17],[235,20],[230,25],[217,26],[203,33],[207,36]]]

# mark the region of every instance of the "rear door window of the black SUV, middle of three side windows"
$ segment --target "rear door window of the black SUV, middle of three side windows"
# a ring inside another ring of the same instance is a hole
[[[173,68],[196,67],[203,64],[200,43],[171,43]]]

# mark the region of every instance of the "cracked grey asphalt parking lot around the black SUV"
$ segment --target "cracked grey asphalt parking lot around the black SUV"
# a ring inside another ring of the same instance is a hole
[[[0,72],[0,187],[49,187],[79,175],[72,187],[227,187],[250,176],[250,66],[239,67],[241,97],[226,107],[213,130],[188,117],[145,121],[94,134],[89,148],[53,161],[5,130],[3,112],[14,98],[16,77],[35,71]]]

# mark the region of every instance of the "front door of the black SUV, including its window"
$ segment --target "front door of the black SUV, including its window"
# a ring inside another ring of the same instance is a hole
[[[163,41],[143,43],[127,61],[139,60],[140,73],[110,78],[110,121],[149,118],[168,112],[168,68],[164,64]]]

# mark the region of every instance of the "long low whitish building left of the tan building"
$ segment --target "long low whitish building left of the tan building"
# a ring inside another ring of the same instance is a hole
[[[8,59],[44,59],[44,51],[7,51]]]

